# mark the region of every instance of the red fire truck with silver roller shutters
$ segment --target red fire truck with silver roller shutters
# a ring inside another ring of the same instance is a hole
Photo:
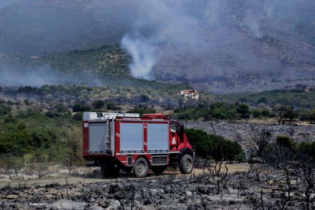
[[[87,166],[101,167],[105,175],[133,169],[144,177],[149,168],[159,175],[167,166],[192,171],[194,152],[184,126],[170,116],[84,112],[82,126]]]

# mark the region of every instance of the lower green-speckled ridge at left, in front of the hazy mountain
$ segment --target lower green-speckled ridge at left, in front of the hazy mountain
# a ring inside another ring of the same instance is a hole
[[[188,85],[138,79],[130,75],[130,57],[118,46],[104,45],[29,56],[0,53],[0,86],[42,86],[46,84],[88,84],[176,90]]]

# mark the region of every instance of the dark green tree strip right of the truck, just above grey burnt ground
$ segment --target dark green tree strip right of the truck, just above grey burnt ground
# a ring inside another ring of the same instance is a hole
[[[174,108],[174,117],[179,120],[240,120],[240,119],[267,119],[276,118],[279,125],[294,119],[315,122],[315,110],[304,108],[294,110],[292,106],[274,105],[272,108],[250,108],[249,105],[239,102],[213,102],[185,104]]]

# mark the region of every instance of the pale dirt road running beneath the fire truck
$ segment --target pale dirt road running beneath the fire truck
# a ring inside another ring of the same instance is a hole
[[[235,172],[244,172],[248,171],[249,165],[248,164],[227,164],[228,168],[228,174],[232,174]],[[202,169],[194,169],[192,172],[192,175],[199,175],[202,174],[204,171]],[[205,170],[207,172],[207,170]],[[190,176],[190,175],[182,175],[179,171],[165,171],[162,175],[160,176],[168,176],[168,175],[176,175],[179,177],[183,176]],[[11,182],[0,182],[0,188],[5,187],[5,186],[11,186],[11,187],[19,187],[19,186],[44,186],[46,184],[52,184],[52,183],[59,183],[61,185],[65,184],[65,176],[66,175],[61,175],[60,177],[49,177],[49,178],[35,178],[35,179],[28,179],[28,180],[14,180]],[[148,173],[147,178],[155,178],[156,175],[153,173]],[[133,177],[132,174],[120,174],[117,178],[86,178],[84,179],[83,177],[75,177],[75,176],[68,176],[67,177],[67,182],[69,184],[77,184],[79,182],[81,183],[96,183],[96,182],[102,182],[102,181],[108,181],[108,180],[121,180],[121,179],[137,179]]]

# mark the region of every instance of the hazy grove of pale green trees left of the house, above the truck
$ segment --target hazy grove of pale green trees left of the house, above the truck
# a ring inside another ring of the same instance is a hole
[[[42,87],[4,87],[3,94],[14,95],[19,93],[35,94],[45,101],[60,101],[61,98],[76,101],[74,109],[76,111],[90,110],[89,106],[81,107],[81,104],[90,104],[94,108],[104,106],[110,110],[118,110],[119,104],[139,104],[154,103],[167,104],[175,103],[178,99],[177,89],[152,89],[134,87],[114,87],[114,86],[89,86],[75,84],[43,85]],[[7,102],[8,103],[8,102]],[[27,101],[25,104],[29,104]],[[73,104],[71,104],[73,106]]]

